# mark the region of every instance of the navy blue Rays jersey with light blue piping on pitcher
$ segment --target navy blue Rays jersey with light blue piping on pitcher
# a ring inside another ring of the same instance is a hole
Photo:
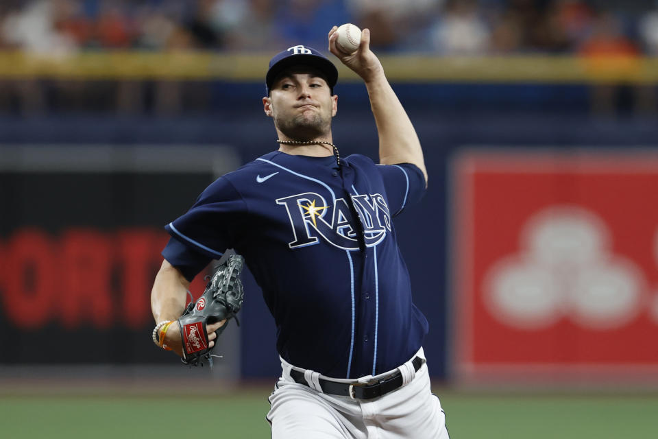
[[[168,224],[162,254],[191,280],[234,248],[263,289],[286,361],[329,377],[376,375],[408,360],[428,331],[391,221],[424,188],[415,165],[271,152]]]

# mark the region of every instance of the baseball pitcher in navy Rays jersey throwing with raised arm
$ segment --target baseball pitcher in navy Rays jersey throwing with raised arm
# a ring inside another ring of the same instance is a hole
[[[426,189],[423,153],[369,30],[347,55],[336,29],[329,50],[365,82],[380,163],[340,156],[332,143],[334,64],[304,45],[274,56],[263,107],[278,150],[220,177],[166,226],[154,317],[178,318],[193,277],[234,248],[276,322],[273,438],[448,438],[422,348],[428,323],[411,301],[392,222]],[[208,324],[210,346],[221,324]],[[175,325],[164,342],[180,355]]]

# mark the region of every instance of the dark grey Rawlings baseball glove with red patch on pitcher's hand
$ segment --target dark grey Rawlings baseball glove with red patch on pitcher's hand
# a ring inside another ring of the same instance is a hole
[[[180,337],[183,344],[183,363],[191,366],[203,366],[204,358],[212,367],[212,355],[210,351],[217,345],[217,339],[224,328],[228,325],[228,320],[236,317],[236,313],[242,307],[244,296],[240,272],[243,268],[245,259],[239,254],[232,254],[226,261],[215,268],[215,273],[209,278],[206,285],[206,291],[199,299],[190,302],[188,307],[178,318],[178,327],[180,328]],[[207,324],[219,322],[226,319],[215,333],[215,346],[208,348]],[[236,318],[236,323],[239,321]]]

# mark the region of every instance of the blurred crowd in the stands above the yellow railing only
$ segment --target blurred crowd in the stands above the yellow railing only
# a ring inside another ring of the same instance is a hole
[[[324,49],[348,22],[382,51],[658,54],[655,0],[3,0],[0,48]]]

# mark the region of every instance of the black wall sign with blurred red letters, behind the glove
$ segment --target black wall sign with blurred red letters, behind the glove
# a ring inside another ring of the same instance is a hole
[[[163,225],[214,179],[212,163],[235,163],[213,154],[202,163],[189,147],[0,145],[0,349],[10,353],[0,365],[171,355],[151,340]]]

